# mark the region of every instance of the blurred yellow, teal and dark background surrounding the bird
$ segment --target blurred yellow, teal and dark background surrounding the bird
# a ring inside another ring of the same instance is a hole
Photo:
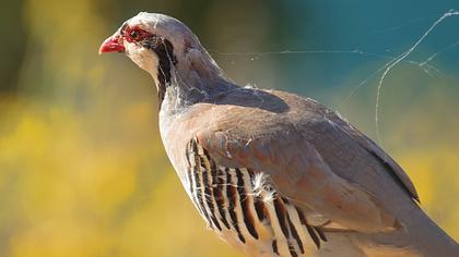
[[[165,12],[187,23],[236,82],[316,98],[374,137],[376,82],[343,99],[452,1],[398,3],[393,12],[388,1],[377,7],[385,19],[362,1],[320,2],[5,3],[0,256],[240,256],[205,230],[165,156],[153,81],[122,54],[98,57],[97,49],[139,11]],[[445,22],[410,58],[420,63],[459,40],[458,20]],[[385,57],[352,53],[354,47]],[[226,54],[295,49],[349,52]],[[433,74],[408,62],[391,72],[380,131],[423,208],[458,240],[459,50],[447,50],[431,63],[439,69]]]

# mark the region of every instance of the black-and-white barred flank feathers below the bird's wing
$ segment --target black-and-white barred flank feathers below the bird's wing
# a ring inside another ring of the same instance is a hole
[[[261,171],[221,167],[196,139],[186,155],[188,194],[209,228],[232,245],[256,256],[306,256],[306,247],[327,241]]]

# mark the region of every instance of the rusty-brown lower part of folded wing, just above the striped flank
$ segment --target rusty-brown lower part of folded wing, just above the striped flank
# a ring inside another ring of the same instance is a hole
[[[198,140],[219,163],[268,173],[281,194],[348,229],[376,232],[396,224],[377,199],[334,174],[306,140],[279,135],[247,144],[223,133],[198,134]]]

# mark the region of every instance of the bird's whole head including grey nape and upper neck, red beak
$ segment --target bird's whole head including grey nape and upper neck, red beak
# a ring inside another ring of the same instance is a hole
[[[139,13],[108,37],[98,51],[128,56],[153,76],[160,98],[178,81],[187,89],[202,89],[222,77],[222,71],[195,34],[165,14]]]

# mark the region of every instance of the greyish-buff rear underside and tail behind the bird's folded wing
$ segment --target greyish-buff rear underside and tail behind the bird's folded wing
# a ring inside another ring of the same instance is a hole
[[[365,234],[350,230],[325,230],[327,243],[319,256],[459,257],[459,245],[423,211],[413,212],[396,231]]]

